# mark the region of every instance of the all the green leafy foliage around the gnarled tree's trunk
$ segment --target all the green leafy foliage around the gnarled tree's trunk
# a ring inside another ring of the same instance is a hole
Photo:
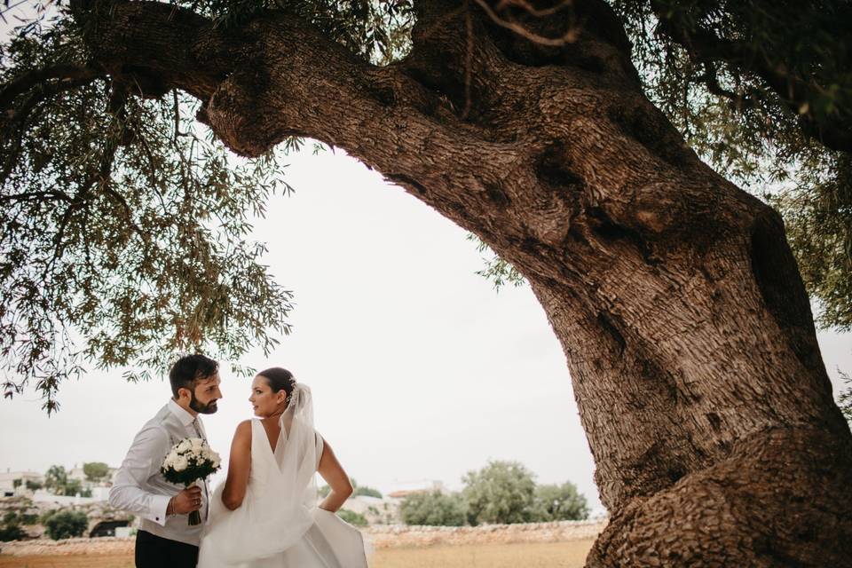
[[[224,27],[295,12],[377,64],[405,57],[416,17],[414,0],[170,4]],[[460,2],[455,15],[486,17],[478,4]],[[492,4],[497,18],[537,17],[519,1]],[[553,8],[547,18],[572,10],[534,4]],[[783,212],[818,322],[852,327],[848,2],[610,4],[648,96],[715,169]],[[89,67],[87,22],[67,2],[28,5],[48,9],[0,47],[5,395],[35,383],[51,412],[59,384],[87,365],[138,369],[126,373],[136,380],[179,351],[236,364],[252,346],[272,349],[288,333],[291,294],[248,236],[266,201],[289,191],[282,154],[301,141],[236,160],[194,120],[199,101],[175,91],[145,99],[126,77]],[[495,256],[483,273],[497,285],[523,281]]]

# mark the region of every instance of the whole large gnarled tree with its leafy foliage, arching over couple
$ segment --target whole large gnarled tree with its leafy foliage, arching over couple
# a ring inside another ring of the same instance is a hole
[[[244,212],[272,149],[314,138],[529,281],[611,511],[588,566],[850,565],[852,436],[785,226],[685,143],[735,180],[777,159],[813,182],[782,205],[848,325],[849,21],[840,0],[72,1],[4,52],[7,390],[51,402],[61,361],[286,330]]]

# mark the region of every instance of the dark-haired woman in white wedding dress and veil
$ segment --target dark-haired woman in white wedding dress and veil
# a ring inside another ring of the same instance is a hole
[[[361,533],[335,515],[352,485],[313,429],[311,390],[273,367],[255,377],[248,400],[259,419],[237,426],[198,568],[366,568]],[[317,471],[331,488],[319,507]]]

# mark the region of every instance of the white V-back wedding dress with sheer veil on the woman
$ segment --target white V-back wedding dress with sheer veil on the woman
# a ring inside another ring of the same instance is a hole
[[[274,451],[251,421],[251,469],[239,508],[210,498],[198,568],[367,568],[359,531],[316,506],[322,438],[313,429],[311,390],[297,383],[280,418]]]

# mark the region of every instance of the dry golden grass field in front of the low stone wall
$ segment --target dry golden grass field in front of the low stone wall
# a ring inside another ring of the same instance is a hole
[[[383,548],[371,568],[580,568],[594,540],[533,544],[483,544]],[[133,557],[6,556],[0,568],[132,568]]]

